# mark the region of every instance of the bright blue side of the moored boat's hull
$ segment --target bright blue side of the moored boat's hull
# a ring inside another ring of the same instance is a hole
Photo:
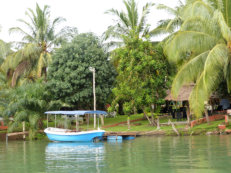
[[[105,132],[94,132],[88,134],[81,135],[55,135],[55,134],[47,134],[47,137],[51,141],[63,141],[63,142],[90,142],[93,141],[94,138],[98,137],[102,139]]]

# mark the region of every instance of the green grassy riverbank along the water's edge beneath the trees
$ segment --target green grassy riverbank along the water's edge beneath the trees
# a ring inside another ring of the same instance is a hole
[[[217,120],[210,122],[210,124],[202,123],[190,128],[180,121],[174,122],[174,127],[177,130],[173,130],[171,125],[168,125],[169,117],[160,118],[160,129],[149,125],[148,121],[143,119],[142,114],[134,115],[131,118],[130,129],[126,124],[127,116],[117,116],[115,118],[106,118],[105,126],[102,127],[106,131],[105,135],[120,135],[120,134],[130,134],[131,136],[193,136],[193,135],[226,135],[231,134],[231,125],[226,126],[225,129],[218,129],[218,125],[224,123],[225,120]],[[82,124],[81,128],[86,129],[86,125]],[[90,124],[89,128],[93,128]],[[6,131],[0,131],[0,140],[6,139]],[[15,135],[8,138],[9,140],[22,140],[22,135]],[[28,137],[27,137],[28,139]],[[44,133],[37,133],[35,140],[47,139]]]

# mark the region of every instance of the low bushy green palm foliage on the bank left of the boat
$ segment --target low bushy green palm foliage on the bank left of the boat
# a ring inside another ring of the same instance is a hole
[[[14,130],[21,122],[25,121],[29,124],[30,135],[32,137],[39,126],[42,126],[39,122],[41,123],[44,112],[59,109],[62,106],[62,102],[50,100],[50,95],[41,81],[4,91],[1,92],[0,96],[1,99],[3,96],[7,96],[7,106],[3,109],[2,115],[4,117],[14,117],[9,131]]]

